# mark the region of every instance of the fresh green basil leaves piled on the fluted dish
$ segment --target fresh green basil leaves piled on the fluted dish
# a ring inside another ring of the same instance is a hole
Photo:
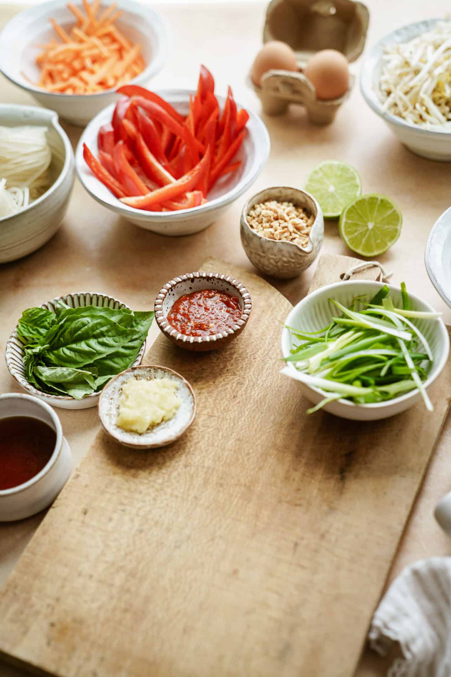
[[[55,312],[28,308],[19,320],[28,383],[49,395],[82,399],[128,369],[147,338],[153,311],[62,301]]]

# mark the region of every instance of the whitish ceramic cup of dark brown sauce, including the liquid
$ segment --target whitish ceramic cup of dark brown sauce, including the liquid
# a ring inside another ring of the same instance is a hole
[[[32,395],[0,395],[0,522],[47,508],[72,467],[60,419]]]

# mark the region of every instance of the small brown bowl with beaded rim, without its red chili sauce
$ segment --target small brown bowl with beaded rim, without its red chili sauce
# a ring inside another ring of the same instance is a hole
[[[201,289],[218,289],[226,294],[232,294],[239,298],[239,305],[241,306],[241,318],[237,324],[222,332],[221,334],[214,334],[213,336],[185,336],[181,334],[174,327],[170,326],[167,317],[168,312],[177,299],[180,299],[183,294],[190,294]],[[232,339],[235,339],[245,328],[247,320],[249,320],[250,311],[252,309],[252,301],[250,293],[247,289],[232,278],[230,275],[223,275],[220,273],[204,273],[195,272],[181,275],[174,280],[169,280],[164,287],[160,289],[160,293],[155,300],[155,319],[160,330],[165,336],[174,341],[176,345],[181,348],[194,351],[208,351],[223,348]]]

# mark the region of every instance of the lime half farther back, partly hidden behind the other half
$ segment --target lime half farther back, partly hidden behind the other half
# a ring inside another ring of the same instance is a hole
[[[360,195],[362,187],[354,167],[327,160],[308,175],[306,191],[316,198],[325,219],[338,219],[343,208]]]

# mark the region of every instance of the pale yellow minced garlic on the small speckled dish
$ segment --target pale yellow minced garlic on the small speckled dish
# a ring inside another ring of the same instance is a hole
[[[168,421],[180,406],[175,391],[179,387],[170,378],[151,380],[128,378],[119,398],[118,427],[133,433],[145,433],[148,428]]]

